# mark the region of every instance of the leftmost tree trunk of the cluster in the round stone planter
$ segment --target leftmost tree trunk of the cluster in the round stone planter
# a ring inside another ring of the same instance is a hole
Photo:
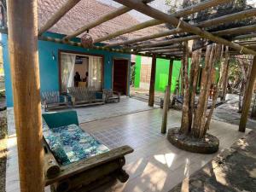
[[[183,42],[183,115],[180,131],[189,132],[189,47],[188,42]]]

